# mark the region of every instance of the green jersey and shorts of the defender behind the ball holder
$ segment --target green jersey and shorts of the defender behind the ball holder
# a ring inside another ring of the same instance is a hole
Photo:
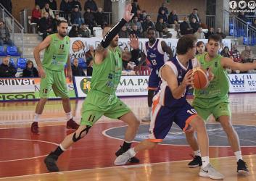
[[[210,114],[218,120],[220,116],[231,116],[228,102],[228,75],[220,63],[223,56],[217,55],[210,62],[207,62],[205,61],[206,55],[207,53],[197,56],[197,59],[204,69],[211,67],[215,77],[207,88],[194,90],[193,106],[205,121]]]

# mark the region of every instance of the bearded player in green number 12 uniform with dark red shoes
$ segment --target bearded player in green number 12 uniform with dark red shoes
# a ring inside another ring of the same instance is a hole
[[[68,97],[65,78],[65,64],[67,64],[67,77],[72,81],[70,64],[70,38],[67,36],[67,22],[61,21],[57,27],[58,33],[48,35],[34,50],[38,72],[41,77],[40,101],[36,106],[34,122],[31,125],[31,132],[38,134],[38,119],[44,110],[49,92],[52,88],[56,96],[62,98],[63,109],[67,117],[67,128],[78,129],[71,114],[70,98]],[[44,52],[44,60],[40,61],[40,51]]]

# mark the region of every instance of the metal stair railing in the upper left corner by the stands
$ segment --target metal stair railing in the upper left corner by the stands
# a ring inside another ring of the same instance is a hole
[[[19,22],[15,19],[15,17],[10,14],[7,9],[4,8],[2,4],[0,4],[0,19],[4,20],[5,25],[10,31],[12,41],[15,43],[15,35],[19,35],[21,38],[21,56],[24,52],[24,43],[23,43],[23,37],[24,37],[24,28],[22,25],[20,25]]]

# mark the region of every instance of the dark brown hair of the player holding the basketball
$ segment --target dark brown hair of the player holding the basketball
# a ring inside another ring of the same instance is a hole
[[[178,39],[176,47],[177,54],[186,54],[189,49],[194,47],[195,42],[197,42],[197,37],[195,35],[183,35],[180,39]]]

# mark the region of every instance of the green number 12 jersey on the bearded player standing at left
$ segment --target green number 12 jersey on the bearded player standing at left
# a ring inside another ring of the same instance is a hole
[[[43,67],[54,71],[63,71],[70,52],[70,38],[65,36],[62,40],[57,34],[52,34],[51,43],[44,52]]]

